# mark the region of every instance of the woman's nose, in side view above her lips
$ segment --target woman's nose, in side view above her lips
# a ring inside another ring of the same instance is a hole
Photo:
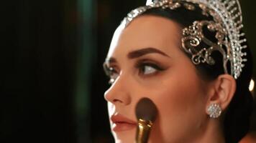
[[[131,102],[129,78],[120,75],[105,92],[104,98],[112,104],[128,105]]]

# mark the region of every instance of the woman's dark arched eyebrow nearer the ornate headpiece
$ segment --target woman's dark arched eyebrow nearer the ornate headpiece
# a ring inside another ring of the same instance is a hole
[[[167,54],[165,54],[163,51],[160,51],[159,49],[149,47],[149,48],[131,51],[131,52],[129,52],[129,54],[127,54],[127,57],[128,57],[128,59],[135,59],[140,56],[144,56],[145,54],[152,54],[152,53],[157,53],[157,54],[162,54],[163,56],[168,56]],[[168,56],[168,57],[170,57],[170,56]]]

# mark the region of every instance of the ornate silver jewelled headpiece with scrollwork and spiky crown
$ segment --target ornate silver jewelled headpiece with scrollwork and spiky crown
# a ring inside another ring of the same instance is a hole
[[[148,9],[178,9],[183,6],[193,11],[195,9],[193,4],[198,4],[202,9],[202,14],[212,16],[214,21],[194,21],[191,26],[183,29],[183,49],[192,55],[193,64],[207,63],[210,65],[215,63],[211,53],[219,51],[223,56],[225,73],[237,79],[242,72],[243,61],[247,61],[243,58],[246,53],[242,52],[242,49],[247,46],[242,46],[246,39],[243,38],[244,33],[241,33],[242,11],[238,0],[147,0],[146,6],[132,10],[122,23],[127,26],[134,18]],[[209,31],[216,32],[218,42],[214,43],[204,36],[203,26],[207,26]],[[197,49],[201,42],[209,47]],[[230,72],[227,69],[228,61],[231,64]]]

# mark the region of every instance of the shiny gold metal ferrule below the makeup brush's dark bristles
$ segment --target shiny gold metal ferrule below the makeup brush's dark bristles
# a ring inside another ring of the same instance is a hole
[[[150,137],[152,124],[151,121],[139,119],[136,132],[136,143],[147,143],[147,140]]]

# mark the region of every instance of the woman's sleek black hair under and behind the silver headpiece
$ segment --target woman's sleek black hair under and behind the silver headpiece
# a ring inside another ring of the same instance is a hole
[[[201,20],[213,20],[210,16],[204,16],[198,5],[195,5],[196,9],[191,11],[180,7],[178,9],[160,9],[154,8],[145,11],[144,14],[162,16],[167,19],[177,22],[182,28],[188,27],[193,24],[193,21]],[[212,41],[215,39],[215,34],[206,31],[205,35]],[[247,43],[245,43],[247,44]],[[201,45],[202,46],[202,45]],[[207,46],[207,45],[203,45]],[[252,55],[250,49],[244,49],[247,53],[247,61],[244,63],[242,74],[236,80],[237,90],[229,104],[227,112],[224,115],[224,137],[227,143],[239,142],[250,129],[250,114],[252,113],[252,94],[249,91],[249,84],[252,78]],[[185,51],[184,51],[185,52]],[[191,55],[187,54],[189,57]],[[211,55],[214,60],[214,65],[209,64],[198,64],[196,68],[198,73],[202,75],[204,79],[213,80],[216,79],[220,74],[224,74],[222,55],[218,52]],[[228,67],[230,70],[230,66]]]

